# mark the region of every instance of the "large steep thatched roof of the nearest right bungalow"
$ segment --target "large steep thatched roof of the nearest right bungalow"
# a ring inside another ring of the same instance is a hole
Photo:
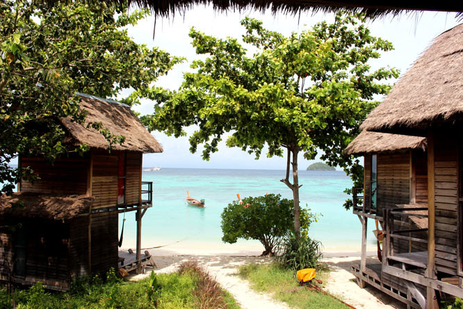
[[[439,35],[361,128],[425,134],[463,120],[463,24]]]

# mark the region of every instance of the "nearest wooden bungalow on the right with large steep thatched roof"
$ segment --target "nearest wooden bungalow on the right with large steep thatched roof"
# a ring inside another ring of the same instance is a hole
[[[428,212],[422,215],[428,222],[426,250],[398,260],[391,239],[400,236],[412,243],[423,239],[395,235],[389,224],[385,232],[389,246],[383,250],[382,272],[403,283],[425,287],[425,304],[421,307],[428,309],[439,308],[441,296],[463,297],[462,68],[460,24],[434,40],[362,124],[362,129],[368,131],[427,138]],[[410,216],[397,208],[393,205],[384,210],[386,225],[394,216]]]

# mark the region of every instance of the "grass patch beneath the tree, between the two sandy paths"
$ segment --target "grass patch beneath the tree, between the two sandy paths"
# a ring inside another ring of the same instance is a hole
[[[300,288],[293,271],[282,269],[275,263],[247,264],[238,269],[238,274],[248,280],[254,290],[271,293],[275,299],[288,303],[292,308],[348,309],[329,295]],[[327,271],[317,273],[317,278],[327,278]]]

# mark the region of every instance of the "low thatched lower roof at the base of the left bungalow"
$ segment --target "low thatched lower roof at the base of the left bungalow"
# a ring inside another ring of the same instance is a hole
[[[95,200],[92,196],[50,195],[33,192],[0,196],[0,216],[69,220],[88,213]]]

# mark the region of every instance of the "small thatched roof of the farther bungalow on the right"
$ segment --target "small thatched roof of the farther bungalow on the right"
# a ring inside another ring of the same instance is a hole
[[[411,149],[426,149],[426,138],[399,134],[367,132],[360,133],[344,150],[345,154],[366,154]]]

